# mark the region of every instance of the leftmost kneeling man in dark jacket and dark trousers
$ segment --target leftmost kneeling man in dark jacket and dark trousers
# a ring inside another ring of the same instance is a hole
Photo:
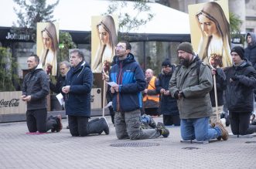
[[[27,59],[29,73],[26,74],[22,86],[22,101],[26,102],[26,123],[30,133],[60,132],[61,116],[47,118],[46,96],[49,94],[49,76],[39,66],[39,56],[30,55]]]

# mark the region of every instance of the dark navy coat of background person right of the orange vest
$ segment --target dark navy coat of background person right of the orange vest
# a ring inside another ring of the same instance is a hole
[[[160,93],[161,89],[169,90],[169,81],[172,77],[172,73],[175,70],[175,66],[172,65],[172,72],[171,73],[161,73],[159,74],[159,81],[156,85],[156,91]],[[178,115],[179,110],[177,106],[177,100],[173,98],[171,95],[160,96],[160,110],[163,115]]]

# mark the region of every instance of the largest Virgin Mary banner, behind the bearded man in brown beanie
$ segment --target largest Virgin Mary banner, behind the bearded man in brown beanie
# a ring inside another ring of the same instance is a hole
[[[218,67],[232,66],[228,1],[189,5],[189,23],[192,46],[200,59],[207,64],[214,59]]]

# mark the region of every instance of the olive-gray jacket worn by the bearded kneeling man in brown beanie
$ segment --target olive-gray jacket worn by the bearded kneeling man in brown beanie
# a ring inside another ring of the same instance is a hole
[[[199,74],[196,72],[196,61],[189,67],[181,66],[173,73],[169,83],[169,90],[174,96],[176,91],[182,91],[184,96],[177,100],[180,119],[193,119],[210,117],[212,106],[210,103],[210,90],[213,87],[213,79],[210,67],[206,63],[200,64]]]

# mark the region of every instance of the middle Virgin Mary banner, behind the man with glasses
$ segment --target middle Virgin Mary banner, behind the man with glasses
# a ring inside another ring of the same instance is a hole
[[[92,16],[91,70],[93,73],[108,73],[117,43],[118,16]]]

